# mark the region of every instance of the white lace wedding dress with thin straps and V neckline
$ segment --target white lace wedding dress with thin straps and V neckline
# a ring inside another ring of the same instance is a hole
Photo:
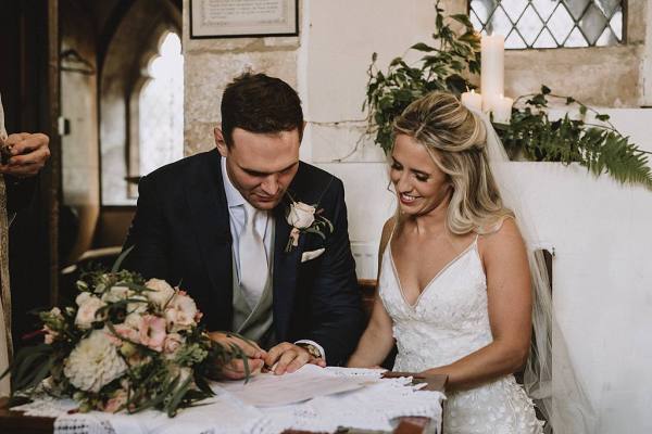
[[[414,305],[403,296],[391,246],[385,248],[378,291],[393,321],[394,371],[419,372],[452,363],[492,341],[487,279],[475,241],[424,289]],[[448,393],[447,434],[542,433],[534,405],[514,375]]]

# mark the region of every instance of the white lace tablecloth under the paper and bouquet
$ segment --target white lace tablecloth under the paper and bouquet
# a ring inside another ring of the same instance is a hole
[[[27,416],[57,418],[55,434],[276,434],[285,430],[333,433],[347,426],[359,430],[391,431],[399,417],[427,417],[431,425],[441,422],[440,392],[419,391],[410,378],[378,381],[381,371],[326,368],[330,375],[356,376],[367,384],[358,391],[313,398],[284,407],[256,408],[240,401],[227,391],[215,388],[216,396],[200,406],[178,412],[174,419],[148,410],[137,414],[68,413],[72,400],[41,396],[12,410]]]

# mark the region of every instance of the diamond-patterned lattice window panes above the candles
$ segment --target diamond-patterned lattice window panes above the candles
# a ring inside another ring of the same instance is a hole
[[[482,34],[505,48],[604,47],[623,42],[624,0],[469,0]]]

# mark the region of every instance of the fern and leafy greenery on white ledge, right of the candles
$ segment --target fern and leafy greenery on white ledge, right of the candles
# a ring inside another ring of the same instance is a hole
[[[579,119],[564,117],[551,120],[546,108],[549,99],[563,100],[577,107]],[[518,103],[525,100],[523,107]],[[588,112],[602,124],[586,122]],[[552,94],[547,86],[540,93],[519,97],[512,108],[510,125],[494,124],[513,158],[518,153],[537,162],[579,163],[595,176],[610,174],[622,183],[638,183],[652,190],[652,171],[647,152],[629,142],[609,122],[610,116],[598,113],[572,97]]]

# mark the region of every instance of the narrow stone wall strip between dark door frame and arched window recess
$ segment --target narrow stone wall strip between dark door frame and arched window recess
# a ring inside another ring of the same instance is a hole
[[[89,62],[84,65],[71,55],[62,60],[61,115],[70,123],[70,133],[61,138],[62,202],[77,217],[75,221],[67,212],[60,215],[60,251],[67,256],[60,261],[65,266],[90,248],[100,210],[98,74],[91,16],[74,1],[59,4],[61,52],[74,51]]]

